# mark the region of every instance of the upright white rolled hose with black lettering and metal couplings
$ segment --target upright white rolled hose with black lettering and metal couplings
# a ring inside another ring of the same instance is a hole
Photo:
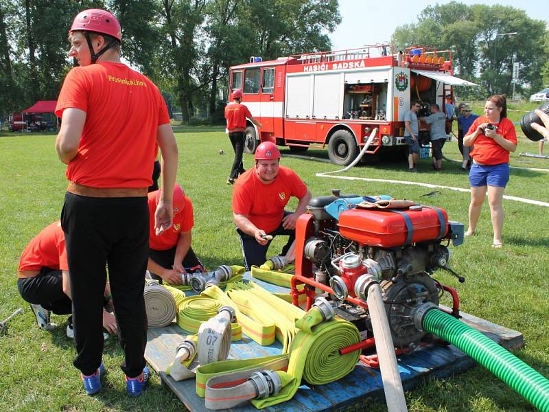
[[[200,325],[198,337],[184,339],[176,351],[176,358],[167,369],[174,380],[193,378],[198,365],[224,361],[231,350],[231,323],[235,319],[235,310],[231,306],[222,306],[215,317]],[[195,361],[195,354],[198,354]]]

